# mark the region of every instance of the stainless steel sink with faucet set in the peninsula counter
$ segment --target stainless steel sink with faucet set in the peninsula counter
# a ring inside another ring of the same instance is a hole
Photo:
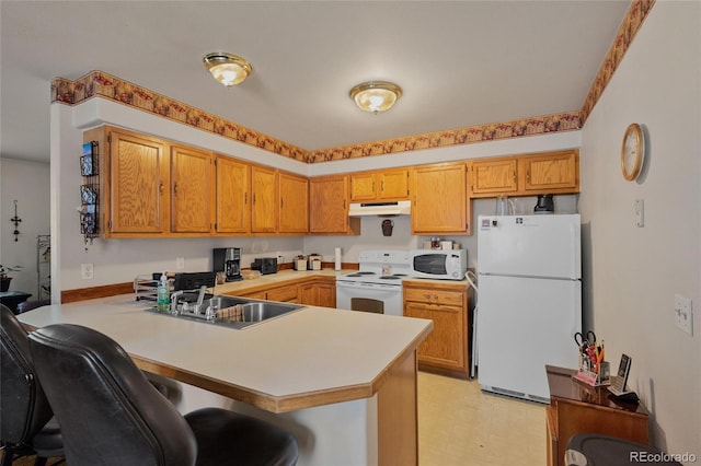
[[[228,295],[215,295],[197,302],[192,302],[192,296],[182,302],[177,301],[179,298],[179,295],[174,295],[175,303],[174,306],[172,306],[173,312],[159,312],[157,307],[149,307],[147,311],[243,329],[251,325],[280,317],[304,307],[299,304],[250,300]]]

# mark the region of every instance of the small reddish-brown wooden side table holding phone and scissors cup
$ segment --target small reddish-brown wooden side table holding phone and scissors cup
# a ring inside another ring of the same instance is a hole
[[[625,403],[609,396],[605,386],[593,387],[572,378],[574,369],[545,365],[550,406],[545,409],[548,465],[565,466],[570,438],[590,432],[648,444],[650,413],[641,403]]]

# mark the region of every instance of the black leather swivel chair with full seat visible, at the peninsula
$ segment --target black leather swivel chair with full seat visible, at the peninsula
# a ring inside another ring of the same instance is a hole
[[[219,408],[183,417],[96,330],[50,325],[30,335],[30,349],[70,466],[297,463],[296,439],[267,422]]]

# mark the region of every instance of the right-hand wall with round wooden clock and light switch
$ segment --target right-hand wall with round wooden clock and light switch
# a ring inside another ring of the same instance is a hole
[[[701,3],[657,1],[583,129],[585,313],[607,359],[632,357],[629,385],[654,441],[701,459]],[[648,132],[641,179],[620,171],[630,123]],[[643,199],[636,228],[633,200]],[[675,327],[675,293],[693,300],[694,336]]]

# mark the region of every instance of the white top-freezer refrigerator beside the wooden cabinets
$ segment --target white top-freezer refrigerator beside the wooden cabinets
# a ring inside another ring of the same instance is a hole
[[[550,403],[545,364],[579,363],[579,215],[480,215],[478,288],[481,388]]]

